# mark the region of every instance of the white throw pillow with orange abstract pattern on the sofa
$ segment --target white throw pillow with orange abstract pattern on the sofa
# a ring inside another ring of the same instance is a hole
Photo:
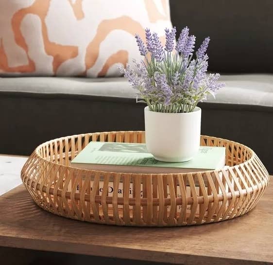
[[[147,27],[164,36],[169,0],[0,0],[0,75],[119,76]]]

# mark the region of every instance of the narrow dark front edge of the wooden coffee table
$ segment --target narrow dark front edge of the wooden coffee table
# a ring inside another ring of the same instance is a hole
[[[48,244],[45,244],[48,242]],[[61,243],[61,244],[60,244]],[[45,247],[45,245],[47,247]],[[147,249],[136,249],[130,247],[114,247],[114,246],[101,246],[101,245],[88,245],[78,244],[64,241],[50,241],[43,239],[34,238],[20,238],[15,236],[0,235],[0,246],[1,247],[17,247],[23,249],[32,250],[43,250],[52,252],[64,252],[79,255],[91,255],[100,257],[110,257],[119,259],[139,260],[139,261],[151,261],[151,262],[162,262],[171,263],[177,265],[237,265],[240,262],[247,262],[248,265],[269,265],[273,264],[271,260],[245,260],[237,258],[225,258],[215,256],[204,256],[204,255],[193,255],[187,253],[174,253],[174,252],[163,252],[156,250]],[[65,247],[65,251],[64,251]],[[122,251],[120,251],[122,249]],[[118,254],[117,254],[118,253]]]

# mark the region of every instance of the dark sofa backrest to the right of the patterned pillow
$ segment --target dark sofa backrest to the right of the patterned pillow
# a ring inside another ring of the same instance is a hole
[[[170,0],[171,20],[180,32],[206,36],[209,70],[273,72],[273,0]]]

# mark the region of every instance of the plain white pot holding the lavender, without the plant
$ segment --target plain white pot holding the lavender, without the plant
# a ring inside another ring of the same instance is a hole
[[[200,146],[201,108],[188,113],[161,113],[144,109],[148,151],[165,162],[192,159]]]

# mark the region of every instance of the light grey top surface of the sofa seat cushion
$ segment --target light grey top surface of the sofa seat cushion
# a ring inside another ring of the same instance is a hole
[[[220,80],[226,87],[218,91],[215,99],[208,96],[207,102],[273,106],[273,74],[222,75]],[[0,91],[136,98],[136,91],[123,77],[1,78]]]

